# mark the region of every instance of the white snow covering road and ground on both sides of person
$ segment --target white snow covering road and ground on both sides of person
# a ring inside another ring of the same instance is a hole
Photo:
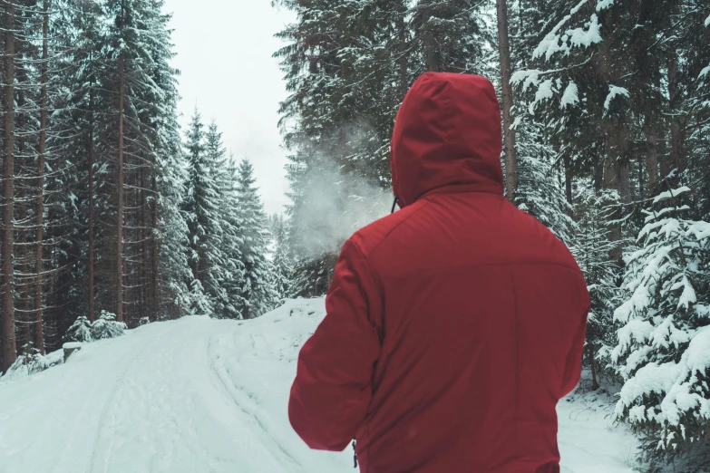
[[[352,449],[310,451],[287,419],[298,349],[323,316],[316,299],[253,321],[151,323],[0,379],[0,473],[352,472]],[[635,442],[610,412],[560,402],[562,471],[633,471]]]

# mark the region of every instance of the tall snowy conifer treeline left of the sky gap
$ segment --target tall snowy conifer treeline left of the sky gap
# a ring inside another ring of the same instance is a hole
[[[248,160],[183,144],[162,0],[2,0],[2,363],[80,317],[129,328],[276,304]]]

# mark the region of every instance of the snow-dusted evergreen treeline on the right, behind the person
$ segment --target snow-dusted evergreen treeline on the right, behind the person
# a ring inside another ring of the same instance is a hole
[[[585,387],[621,387],[617,418],[649,470],[708,461],[710,2],[276,3],[297,13],[276,53],[291,92],[291,294],[323,294],[333,271],[330,246],[313,252],[318,176],[337,169],[343,194],[350,179],[390,192],[389,140],[413,81],[485,75],[501,98],[508,198],[588,279]]]

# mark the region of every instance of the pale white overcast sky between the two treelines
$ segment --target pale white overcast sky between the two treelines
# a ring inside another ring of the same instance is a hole
[[[287,160],[277,122],[287,92],[271,54],[283,44],[274,34],[294,16],[269,0],[165,0],[165,11],[173,14],[183,130],[197,104],[206,125],[217,121],[227,150],[251,159],[267,212],[282,212]]]

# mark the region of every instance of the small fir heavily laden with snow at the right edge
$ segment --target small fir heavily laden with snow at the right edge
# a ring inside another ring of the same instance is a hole
[[[710,435],[710,223],[684,218],[689,191],[663,192],[646,211],[614,314],[610,357],[625,381],[616,416],[650,457],[673,458]]]

